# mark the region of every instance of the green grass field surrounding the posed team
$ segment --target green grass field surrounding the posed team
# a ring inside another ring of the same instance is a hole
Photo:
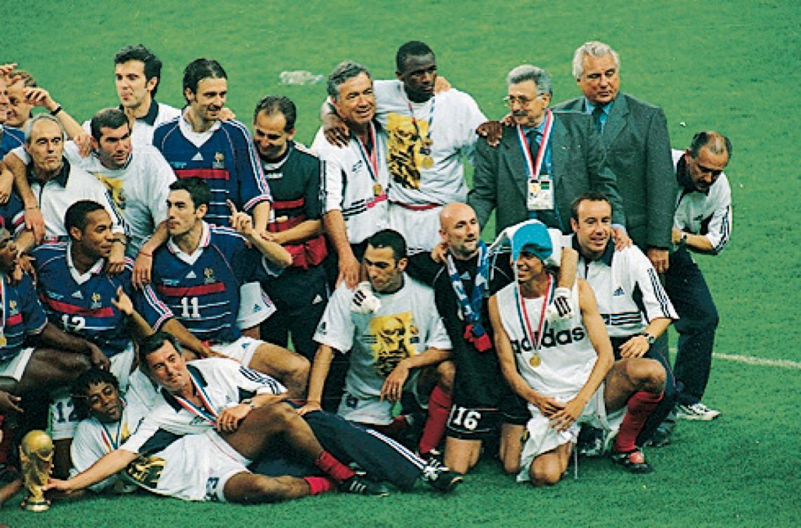
[[[411,39],[437,52],[440,74],[489,118],[504,113],[505,74],[521,62],[553,75],[554,101],[578,95],[570,59],[582,42],[622,57],[622,89],[664,108],[674,148],[715,128],[735,146],[727,168],[734,233],[718,258],[699,258],[718,304],[718,358],[705,402],[711,423],[682,422],[674,443],[647,450],[656,473],[606,460],[534,490],[483,462],[455,494],[334,494],[271,506],[188,504],[137,496],[59,503],[43,514],[16,499],[0,522],[22,526],[799,526],[796,412],[799,295],[799,2],[4,2],[0,62],[19,62],[80,120],[115,106],[112,55],[143,42],[165,68],[159,100],[181,104],[183,66],[199,56],[227,69],[229,106],[249,123],[264,94],[299,106],[310,142],[324,86],[282,86],[282,70],[328,74],[352,58],[376,78]],[[189,7],[191,6],[191,7]],[[794,58],[795,57],[795,58]],[[796,108],[796,110],[792,110]],[[684,126],[682,123],[686,124]],[[793,161],[793,160],[796,161]],[[796,211],[795,213],[793,211]]]

